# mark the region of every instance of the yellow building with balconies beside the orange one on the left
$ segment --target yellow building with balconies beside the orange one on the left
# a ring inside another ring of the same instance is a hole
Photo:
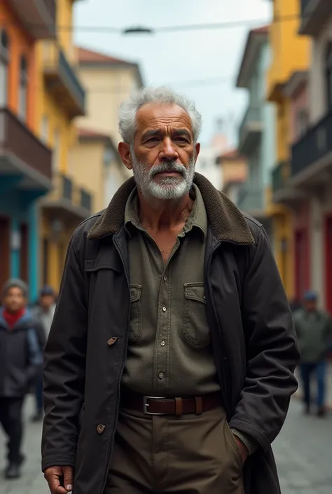
[[[74,118],[85,114],[85,89],[76,74],[72,0],[57,0],[57,37],[36,50],[36,132],[53,149],[53,191],[41,208],[41,284],[60,285],[71,233],[92,212],[92,194],[73,174]],[[64,29],[66,27],[66,29]]]

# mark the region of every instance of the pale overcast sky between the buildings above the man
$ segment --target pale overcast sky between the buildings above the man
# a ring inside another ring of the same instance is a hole
[[[172,88],[193,98],[203,117],[202,144],[207,144],[214,134],[217,118],[223,118],[225,130],[234,140],[246,104],[245,93],[234,87],[244,43],[249,29],[269,22],[271,5],[267,0],[85,0],[75,7],[75,41],[139,62],[144,83],[172,83]],[[168,27],[250,19],[257,22],[228,29],[153,35],[123,36],[82,29]],[[223,77],[224,82],[196,83]],[[193,83],[184,84],[186,81]]]

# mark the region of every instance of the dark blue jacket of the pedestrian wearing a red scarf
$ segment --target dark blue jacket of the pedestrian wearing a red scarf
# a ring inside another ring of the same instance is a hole
[[[10,328],[0,308],[0,396],[22,397],[34,383],[42,364],[39,323],[29,309]]]

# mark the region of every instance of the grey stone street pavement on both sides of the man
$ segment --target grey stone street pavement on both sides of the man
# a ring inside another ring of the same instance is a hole
[[[41,426],[29,423],[31,413],[32,400],[29,398],[25,407],[27,462],[23,476],[18,481],[5,481],[1,472],[1,494],[49,492],[40,469]],[[332,413],[323,419],[303,416],[300,401],[293,399],[284,428],[273,444],[282,494],[332,494],[331,439]],[[5,467],[4,451],[5,441],[0,432],[1,471]]]

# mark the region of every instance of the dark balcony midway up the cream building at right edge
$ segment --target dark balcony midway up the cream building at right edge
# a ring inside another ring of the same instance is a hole
[[[291,183],[314,186],[332,171],[332,111],[292,146]]]

